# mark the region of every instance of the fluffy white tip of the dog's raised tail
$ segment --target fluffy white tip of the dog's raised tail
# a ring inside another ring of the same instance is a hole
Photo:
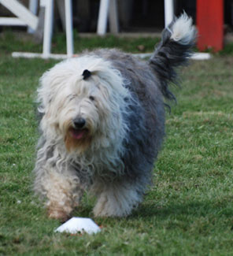
[[[188,17],[186,13],[183,13],[172,25],[171,39],[183,45],[193,41],[196,31],[192,22],[192,18]]]

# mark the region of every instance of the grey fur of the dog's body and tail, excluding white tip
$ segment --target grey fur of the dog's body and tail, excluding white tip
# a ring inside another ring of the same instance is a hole
[[[172,24],[169,28],[172,28]],[[165,136],[163,96],[176,100],[168,89],[168,83],[178,83],[176,68],[187,65],[195,36],[196,34],[190,43],[183,45],[170,39],[171,32],[165,29],[161,43],[148,62],[139,61],[131,54],[116,49],[96,50],[91,53],[111,61],[113,67],[129,81],[127,87],[135,101],[131,105],[131,114],[125,117],[128,118],[130,132],[125,141],[127,150],[122,156],[125,174],[120,180],[127,179],[137,184],[135,187],[138,187],[141,196],[147,185],[151,184],[153,163]]]

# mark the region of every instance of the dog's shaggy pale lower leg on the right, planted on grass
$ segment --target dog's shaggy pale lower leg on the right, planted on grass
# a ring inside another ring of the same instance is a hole
[[[142,201],[138,188],[137,184],[128,181],[114,181],[109,184],[104,184],[102,181],[95,182],[92,192],[98,196],[98,199],[94,206],[94,216],[128,216]]]

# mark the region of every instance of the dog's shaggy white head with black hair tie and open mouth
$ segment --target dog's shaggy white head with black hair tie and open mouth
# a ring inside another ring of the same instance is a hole
[[[68,151],[109,147],[125,132],[125,98],[120,72],[95,56],[73,58],[42,76],[38,90],[41,129],[50,139],[62,139]]]

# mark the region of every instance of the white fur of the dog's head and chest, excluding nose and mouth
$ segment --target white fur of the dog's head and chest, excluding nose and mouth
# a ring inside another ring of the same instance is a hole
[[[82,74],[77,73],[84,69],[96,75],[85,81]],[[115,171],[113,166],[118,166],[119,154],[124,150],[122,139],[125,138],[128,129],[122,118],[122,114],[128,111],[124,98],[130,98],[123,86],[124,83],[120,73],[112,69],[109,62],[96,57],[63,61],[43,75],[38,90],[38,99],[42,102],[39,112],[44,114],[40,127],[47,143],[57,145],[54,158],[61,157],[62,162],[70,161],[72,158],[83,169],[87,169],[87,165],[91,167],[96,161],[100,164],[102,160],[109,159],[108,169]],[[88,99],[89,95],[94,95],[97,99],[97,104],[103,112],[102,117],[93,106],[94,103]],[[94,130],[93,133],[98,129],[98,135],[95,135],[87,152],[81,155],[76,152],[67,154],[63,143],[66,126],[79,114],[87,118],[87,122]],[[107,150],[104,151],[104,148]],[[99,149],[101,152],[98,152]],[[108,165],[106,162],[102,164],[105,167]],[[59,165],[57,167],[59,168]],[[102,168],[103,166],[99,165],[98,170],[101,172]]]

